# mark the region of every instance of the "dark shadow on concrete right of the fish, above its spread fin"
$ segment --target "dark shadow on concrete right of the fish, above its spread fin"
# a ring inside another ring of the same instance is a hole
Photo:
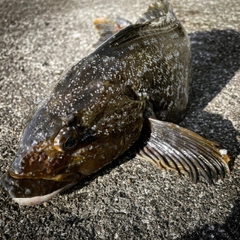
[[[240,134],[231,121],[204,108],[222,91],[240,69],[240,34],[234,30],[212,30],[190,34],[192,47],[192,96],[186,119],[180,125],[228,149],[231,164],[240,153]],[[238,109],[236,93],[229,91],[228,100]],[[222,100],[224,101],[224,99]],[[216,109],[224,102],[217,102]],[[227,105],[226,105],[227,108]],[[226,109],[228,110],[228,109]],[[234,111],[234,110],[232,110]],[[235,113],[234,117],[235,117]],[[235,121],[240,121],[239,116]],[[231,166],[230,166],[231,167]]]

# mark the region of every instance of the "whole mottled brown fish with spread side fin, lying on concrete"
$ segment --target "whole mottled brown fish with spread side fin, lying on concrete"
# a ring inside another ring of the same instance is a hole
[[[226,151],[175,124],[189,101],[191,50],[169,3],[158,0],[118,28],[66,73],[26,127],[1,180],[19,204],[47,201],[129,149],[193,182],[229,172]]]

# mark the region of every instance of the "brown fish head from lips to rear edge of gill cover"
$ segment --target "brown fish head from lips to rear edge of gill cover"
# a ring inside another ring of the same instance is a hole
[[[91,84],[80,91],[82,101],[74,91],[63,92],[70,88],[55,88],[24,130],[17,157],[1,180],[19,204],[52,198],[116,159],[138,139],[144,103],[107,81]],[[59,96],[65,96],[64,103]]]

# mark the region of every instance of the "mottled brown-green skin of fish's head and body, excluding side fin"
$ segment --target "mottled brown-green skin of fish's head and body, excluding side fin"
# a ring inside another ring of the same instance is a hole
[[[182,118],[191,83],[189,39],[171,10],[161,14],[112,36],[57,84],[25,129],[8,172],[19,188],[21,179],[52,185],[12,196],[44,195],[56,182],[96,172],[138,140],[150,116]],[[64,146],[71,136],[74,146]]]

